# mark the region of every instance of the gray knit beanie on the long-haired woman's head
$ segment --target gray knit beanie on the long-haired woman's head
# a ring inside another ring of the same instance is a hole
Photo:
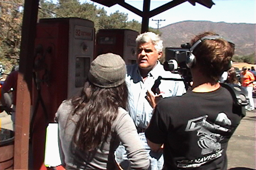
[[[113,53],[99,55],[91,63],[89,81],[99,87],[117,87],[124,83],[126,64],[122,57]]]

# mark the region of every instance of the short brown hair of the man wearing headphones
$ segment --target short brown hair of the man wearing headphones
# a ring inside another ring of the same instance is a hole
[[[190,42],[191,46],[204,36],[218,35],[213,32],[204,32],[196,35]],[[222,73],[228,69],[234,55],[234,44],[223,38],[205,39],[194,50],[196,67],[203,75],[209,77],[213,83],[218,82]]]

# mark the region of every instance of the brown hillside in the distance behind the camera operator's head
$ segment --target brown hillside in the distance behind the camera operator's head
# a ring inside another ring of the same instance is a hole
[[[212,31],[235,43],[235,55],[249,55],[256,49],[256,24],[225,23],[210,21],[182,21],[162,27],[164,47],[180,47],[189,42],[194,35]]]

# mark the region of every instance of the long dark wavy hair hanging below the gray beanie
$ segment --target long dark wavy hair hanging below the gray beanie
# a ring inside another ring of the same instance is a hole
[[[83,151],[92,151],[106,142],[118,107],[126,109],[127,100],[126,82],[117,87],[102,88],[87,81],[81,95],[71,99],[74,106],[71,115],[79,115],[73,136],[76,146]]]

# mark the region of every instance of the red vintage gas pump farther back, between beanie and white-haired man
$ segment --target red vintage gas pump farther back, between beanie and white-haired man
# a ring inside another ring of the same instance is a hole
[[[130,29],[100,29],[96,34],[95,57],[112,52],[123,57],[126,64],[136,63],[137,31]]]

